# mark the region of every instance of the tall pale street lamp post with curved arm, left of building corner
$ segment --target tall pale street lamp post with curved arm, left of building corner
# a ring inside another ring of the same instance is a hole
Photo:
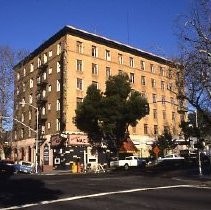
[[[28,105],[28,106],[31,106],[33,107],[35,110],[36,110],[36,115],[37,115],[37,119],[36,119],[36,126],[37,126],[37,129],[36,129],[36,138],[35,138],[35,173],[38,173],[38,146],[39,146],[39,120],[38,120],[38,117],[39,117],[39,112],[38,112],[38,107],[32,105],[32,104],[29,104],[29,103],[26,103],[26,102],[21,102],[20,104],[22,105]]]

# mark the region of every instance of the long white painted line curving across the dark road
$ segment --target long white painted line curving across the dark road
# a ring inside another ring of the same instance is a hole
[[[24,205],[20,205],[20,206],[11,206],[8,208],[1,208],[0,210],[21,209],[21,208],[28,208],[28,207],[32,207],[32,206],[38,206],[38,205],[46,205],[46,204],[52,204],[52,203],[58,203],[58,202],[73,201],[73,200],[79,200],[79,199],[84,199],[84,198],[100,197],[100,196],[112,195],[112,194],[123,194],[123,193],[138,192],[138,191],[160,190],[160,189],[171,189],[171,188],[185,188],[185,187],[211,189],[211,187],[203,187],[203,186],[197,186],[197,185],[172,185],[172,186],[163,186],[163,187],[136,188],[136,189],[130,189],[130,190],[104,192],[104,193],[96,193],[96,194],[90,194],[90,195],[79,195],[79,196],[61,198],[61,199],[50,200],[50,201],[41,201],[41,202],[37,202],[37,203],[24,204]]]

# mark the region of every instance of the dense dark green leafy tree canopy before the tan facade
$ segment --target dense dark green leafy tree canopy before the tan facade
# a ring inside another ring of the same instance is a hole
[[[90,85],[83,102],[76,109],[75,125],[87,133],[93,146],[102,143],[117,152],[128,135],[129,125],[135,126],[148,114],[146,98],[132,90],[127,74],[110,77],[105,92]]]

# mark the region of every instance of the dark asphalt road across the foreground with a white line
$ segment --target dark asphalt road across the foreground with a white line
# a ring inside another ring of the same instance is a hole
[[[211,181],[133,172],[14,175],[0,179],[0,209],[208,210]]]

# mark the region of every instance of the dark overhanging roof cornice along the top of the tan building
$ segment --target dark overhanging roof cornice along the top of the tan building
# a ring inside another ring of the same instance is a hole
[[[66,25],[62,29],[60,29],[57,33],[52,35],[48,40],[44,41],[38,48],[36,48],[34,51],[32,51],[28,56],[26,56],[18,64],[16,64],[14,66],[14,69],[21,67],[26,62],[33,59],[42,50],[44,50],[45,48],[47,48],[52,43],[54,43],[56,40],[58,40],[59,38],[61,38],[62,36],[66,35],[66,34],[77,35],[77,36],[82,37],[84,39],[94,40],[96,42],[103,43],[105,45],[106,44],[107,45],[113,45],[117,48],[121,48],[121,50],[123,50],[123,51],[131,52],[133,54],[142,56],[142,57],[147,58],[147,59],[156,60],[156,61],[161,62],[163,64],[169,64],[169,65],[173,65],[173,66],[175,65],[175,63],[173,61],[166,59],[162,56],[155,55],[153,53],[132,47],[132,46],[127,45],[127,44],[123,44],[121,42],[109,39],[109,38],[104,37],[104,36],[100,36],[100,35],[97,35],[97,34],[94,34],[94,33],[87,32],[87,31],[82,30],[82,29],[75,28],[75,27],[70,26],[70,25]]]

